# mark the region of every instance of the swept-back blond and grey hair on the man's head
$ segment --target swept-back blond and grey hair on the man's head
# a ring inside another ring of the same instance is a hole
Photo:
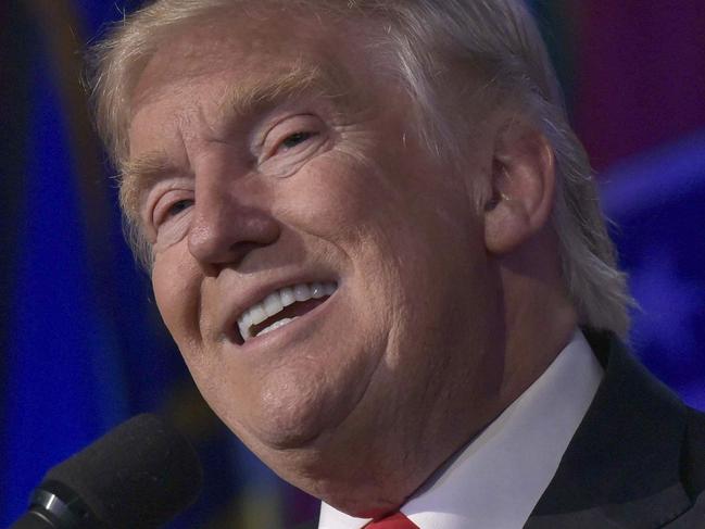
[[[135,83],[160,43],[175,29],[219,10],[263,3],[377,21],[379,42],[395,76],[415,102],[417,128],[432,155],[461,156],[459,113],[441,104],[440,72],[452,70],[502,95],[553,148],[557,186],[552,223],[559,240],[564,281],[579,323],[626,337],[626,276],[600,209],[588,155],[572,131],[562,92],[536,23],[519,0],[156,0],[113,26],[91,50],[90,79],[99,133],[121,172],[129,151],[127,128]],[[238,8],[237,11],[234,8]],[[477,95],[468,101],[478,104]],[[450,151],[450,152],[449,152]],[[125,204],[123,203],[123,206]],[[125,207],[123,207],[125,211]],[[126,215],[126,236],[151,266],[138,222]]]

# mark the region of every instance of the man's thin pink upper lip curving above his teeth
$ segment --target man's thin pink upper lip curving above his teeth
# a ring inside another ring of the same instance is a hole
[[[224,306],[224,313],[221,317],[222,325],[217,328],[221,329],[222,336],[232,338],[235,335],[239,336],[238,318],[242,316],[244,311],[253,306],[255,303],[264,300],[268,294],[285,287],[293,287],[300,284],[311,282],[328,282],[336,281],[340,284],[335,274],[326,273],[311,273],[301,274],[298,276],[281,277],[270,281],[248,281],[248,287],[239,289],[237,298],[229,304]]]

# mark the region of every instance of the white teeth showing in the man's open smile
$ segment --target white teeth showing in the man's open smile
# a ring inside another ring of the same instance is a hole
[[[242,338],[247,341],[253,336],[253,325],[261,324],[268,317],[280,313],[281,311],[284,311],[285,306],[289,306],[295,301],[301,302],[311,299],[323,298],[325,295],[331,295],[337,288],[338,287],[335,282],[310,282],[294,285],[292,287],[285,287],[275,292],[272,292],[264,300],[255,303],[240,315],[240,317],[238,318],[240,335],[242,335]],[[275,322],[270,326],[262,329],[259,335],[269,332],[278,327],[293,322],[295,318],[297,317],[285,318],[279,322]]]

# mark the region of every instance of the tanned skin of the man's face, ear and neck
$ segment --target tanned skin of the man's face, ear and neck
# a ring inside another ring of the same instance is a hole
[[[284,479],[368,517],[402,504],[575,328],[545,140],[500,109],[473,116],[463,164],[430,156],[407,96],[361,51],[375,30],[263,9],[174,34],[133,93],[130,162],[151,168],[126,182],[205,400]],[[344,103],[310,89],[227,111],[234,88],[292,64],[343,75]],[[501,197],[481,211],[477,181]],[[312,280],[339,288],[234,339],[244,308]]]

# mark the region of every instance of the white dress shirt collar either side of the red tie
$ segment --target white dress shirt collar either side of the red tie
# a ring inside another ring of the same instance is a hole
[[[580,330],[556,360],[401,507],[421,529],[520,529],[549,487],[603,369]],[[326,503],[319,529],[358,529]]]

